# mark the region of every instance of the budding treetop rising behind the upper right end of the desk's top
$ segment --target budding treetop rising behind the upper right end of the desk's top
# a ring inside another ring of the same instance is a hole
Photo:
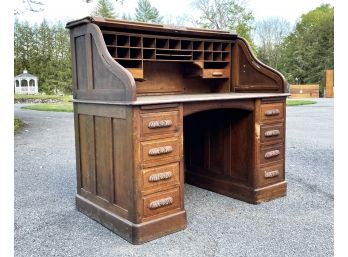
[[[239,0],[195,0],[193,6],[201,12],[196,23],[203,28],[236,31],[253,46],[250,32],[254,17]]]

